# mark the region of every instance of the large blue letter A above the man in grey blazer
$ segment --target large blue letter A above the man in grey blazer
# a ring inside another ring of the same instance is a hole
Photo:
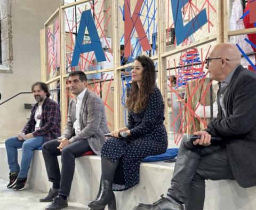
[[[83,44],[85,27],[87,26],[87,30],[91,39],[91,43]],[[98,62],[106,61],[106,57],[104,55],[100,38],[95,27],[95,23],[93,21],[91,10],[85,10],[82,12],[81,21],[78,29],[78,34],[76,38],[76,45],[73,53],[73,58],[71,62],[71,67],[78,66],[78,61],[81,53],[94,51],[96,59]]]

